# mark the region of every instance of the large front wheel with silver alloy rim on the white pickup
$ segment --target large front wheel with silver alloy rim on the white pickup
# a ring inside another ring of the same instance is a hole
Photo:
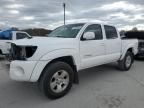
[[[54,62],[47,66],[40,78],[39,86],[50,99],[66,95],[73,84],[73,69],[64,62]]]

